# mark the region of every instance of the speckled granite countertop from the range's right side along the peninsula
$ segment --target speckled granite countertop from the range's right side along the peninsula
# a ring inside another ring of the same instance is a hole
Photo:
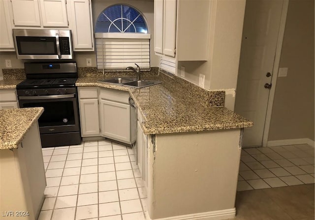
[[[209,107],[202,104],[199,100],[184,94],[178,86],[172,86],[167,81],[137,89],[99,83],[97,80],[99,78],[79,78],[76,85],[129,91],[145,118],[145,122],[142,123],[145,134],[236,129],[253,125],[251,121],[224,107]]]

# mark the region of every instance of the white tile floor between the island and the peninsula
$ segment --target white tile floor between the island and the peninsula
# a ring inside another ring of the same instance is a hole
[[[102,140],[42,152],[47,187],[38,220],[145,220],[132,149]]]

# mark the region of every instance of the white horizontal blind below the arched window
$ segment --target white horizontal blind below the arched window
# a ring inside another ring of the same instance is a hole
[[[95,38],[97,68],[126,69],[137,63],[141,69],[150,68],[150,39]]]

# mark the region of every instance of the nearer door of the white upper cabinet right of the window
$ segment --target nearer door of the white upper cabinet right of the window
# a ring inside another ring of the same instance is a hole
[[[163,18],[163,54],[174,57],[176,39],[176,0],[164,0]]]

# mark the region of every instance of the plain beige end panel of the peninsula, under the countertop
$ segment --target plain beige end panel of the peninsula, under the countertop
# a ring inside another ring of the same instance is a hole
[[[240,129],[156,135],[149,147],[150,218],[223,210],[233,218],[239,140]]]

